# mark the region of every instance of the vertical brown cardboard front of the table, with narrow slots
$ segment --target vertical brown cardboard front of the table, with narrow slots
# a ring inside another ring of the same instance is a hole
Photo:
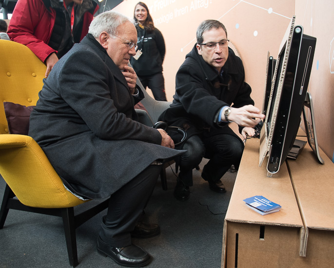
[[[227,237],[226,268],[332,268],[334,264],[333,231],[310,229],[306,257],[298,254],[298,228],[265,225],[260,238],[260,225],[227,222]],[[221,267],[225,268],[224,262]]]

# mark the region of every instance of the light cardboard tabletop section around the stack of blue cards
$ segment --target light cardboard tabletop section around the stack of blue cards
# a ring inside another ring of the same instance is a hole
[[[261,168],[258,166],[258,154],[259,139],[248,139],[225,219],[302,227],[295,193],[285,163],[273,177],[267,177],[266,165]],[[265,216],[256,213],[242,201],[254,195],[263,195],[281,205],[281,210]]]

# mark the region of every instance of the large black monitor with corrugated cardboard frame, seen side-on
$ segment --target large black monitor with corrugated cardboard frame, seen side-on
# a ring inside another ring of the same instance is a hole
[[[279,48],[271,96],[260,136],[262,165],[268,156],[267,171],[278,172],[294,145],[310,80],[316,38],[303,34],[295,17]]]

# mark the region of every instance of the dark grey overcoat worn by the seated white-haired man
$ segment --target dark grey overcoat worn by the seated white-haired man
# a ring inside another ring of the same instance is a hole
[[[134,105],[121,71],[87,35],[44,80],[29,135],[68,189],[104,198],[153,161],[180,153],[160,146],[156,129],[133,120],[138,118]]]

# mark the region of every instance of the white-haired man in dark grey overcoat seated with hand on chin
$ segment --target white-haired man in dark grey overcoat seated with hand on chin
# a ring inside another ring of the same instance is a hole
[[[134,105],[143,98],[136,73],[132,21],[108,11],[55,64],[31,114],[29,135],[41,146],[67,189],[81,198],[111,195],[97,249],[122,266],[141,267],[151,256],[132,237],[159,234],[140,217],[161,170],[177,156],[162,129],[140,124]]]

